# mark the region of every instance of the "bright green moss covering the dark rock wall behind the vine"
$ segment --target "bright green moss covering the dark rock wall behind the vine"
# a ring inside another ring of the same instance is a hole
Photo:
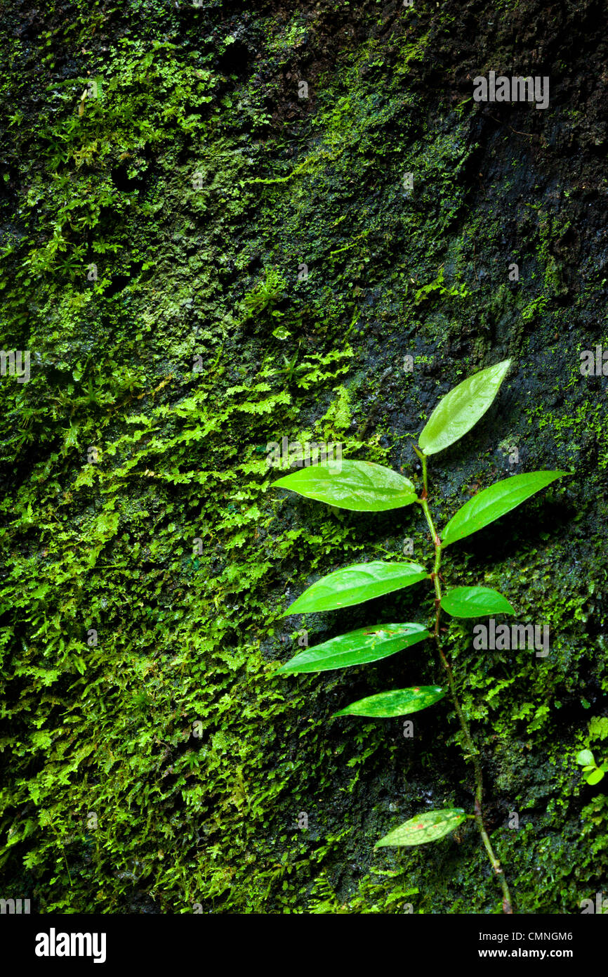
[[[449,702],[414,741],[330,719],[436,663],[273,677],[303,627],[367,622],[283,619],[310,578],[407,539],[425,560],[424,526],[285,498],[265,455],[340,439],[419,484],[436,398],[507,355],[510,393],[433,467],[433,504],[445,520],[507,474],[504,439],[525,468],[575,470],[445,564],[547,621],[551,655],[481,655],[458,623],[447,641],[519,911],[576,912],[605,875],[603,795],[574,762],[608,691],[605,406],[578,359],[601,277],[564,291],[574,212],[517,209],[530,162],[437,90],[453,4],[322,6],[50,4],[1,55],[2,342],[32,376],[1,380],[0,860],[40,912],[500,910],[468,828],[373,847],[427,803],[470,806]],[[430,601],[372,610],[423,620]]]

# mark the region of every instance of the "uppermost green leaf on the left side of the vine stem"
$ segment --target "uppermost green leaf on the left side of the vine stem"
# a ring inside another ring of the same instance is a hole
[[[342,471],[340,467],[342,466]],[[411,505],[417,495],[409,479],[373,461],[323,462],[292,472],[272,484],[291,488],[306,498],[315,498],[353,512],[384,512]]]

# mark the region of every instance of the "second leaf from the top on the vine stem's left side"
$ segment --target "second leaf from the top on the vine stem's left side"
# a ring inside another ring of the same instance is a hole
[[[429,574],[418,563],[357,563],[336,573],[328,573],[288,607],[283,617],[307,611],[334,611],[362,604],[424,580]]]

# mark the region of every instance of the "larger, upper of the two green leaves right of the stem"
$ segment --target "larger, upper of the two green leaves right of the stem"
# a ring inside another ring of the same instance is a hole
[[[525,475],[513,475],[490,488],[484,488],[453,516],[443,531],[441,545],[449,546],[458,539],[464,539],[471,532],[483,530],[515,506],[525,502],[530,495],[567,474],[568,472],[528,472]]]

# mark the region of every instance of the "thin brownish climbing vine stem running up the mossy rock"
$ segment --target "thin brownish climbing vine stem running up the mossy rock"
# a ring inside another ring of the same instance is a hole
[[[466,716],[465,716],[465,713],[463,712],[463,707],[461,705],[461,702],[460,702],[460,700],[458,698],[458,695],[457,695],[457,692],[456,692],[456,683],[454,681],[454,674],[452,672],[452,666],[451,666],[450,662],[448,661],[448,659],[446,658],[446,656],[445,656],[445,654],[443,652],[443,649],[441,648],[441,632],[440,632],[440,628],[439,628],[439,620],[440,620],[440,616],[441,616],[441,576],[439,574],[439,568],[441,566],[441,540],[440,540],[440,538],[439,538],[439,536],[437,534],[437,531],[435,530],[435,526],[434,526],[434,523],[432,521],[432,516],[430,515],[430,509],[428,508],[428,500],[427,500],[428,483],[427,483],[427,474],[426,474],[426,454],[424,454],[416,446],[415,446],[414,450],[418,454],[419,458],[422,461],[422,465],[423,465],[423,493],[422,493],[421,497],[418,499],[418,501],[419,501],[420,505],[422,506],[423,512],[425,513],[426,524],[428,526],[428,530],[430,531],[430,538],[432,540],[432,544],[433,544],[434,551],[435,551],[435,562],[434,562],[434,565],[433,565],[432,573],[430,574],[430,578],[432,580],[432,583],[433,583],[433,586],[434,586],[434,589],[435,589],[435,623],[434,623],[434,627],[433,627],[433,631],[432,631],[432,636],[433,636],[434,641],[435,641],[435,644],[437,646],[437,653],[438,653],[439,658],[441,660],[441,664],[442,664],[443,668],[445,669],[445,672],[446,672],[446,675],[447,675],[448,685],[450,687],[450,696],[451,696],[452,701],[454,703],[454,708],[456,709],[456,714],[457,714],[458,719],[459,719],[459,722],[461,724],[461,730],[463,731],[465,760],[466,761],[472,760],[472,764],[473,764],[473,771],[474,771],[474,775],[475,775],[475,813],[473,815],[473,818],[474,818],[475,824],[477,826],[477,829],[479,830],[479,833],[481,835],[481,839],[483,841],[484,847],[485,847],[486,852],[488,854],[488,858],[489,858],[490,863],[492,865],[492,869],[493,869],[495,875],[497,876],[497,878],[498,878],[498,880],[499,880],[499,882],[501,884],[501,888],[503,890],[503,911],[505,913],[512,913],[513,912],[513,904],[512,904],[511,897],[510,897],[510,893],[508,891],[508,885],[507,885],[507,879],[505,877],[505,872],[503,871],[503,868],[501,866],[501,863],[500,863],[499,859],[496,857],[496,854],[494,852],[494,849],[492,848],[492,842],[490,841],[488,832],[486,831],[486,829],[484,827],[484,824],[483,824],[483,810],[482,810],[483,775],[482,775],[482,772],[481,772],[481,763],[479,762],[479,751],[475,748],[475,744],[472,741],[472,737],[470,735],[470,729],[468,727],[468,723],[466,722]],[[466,749],[465,749],[465,747],[466,747]]]

